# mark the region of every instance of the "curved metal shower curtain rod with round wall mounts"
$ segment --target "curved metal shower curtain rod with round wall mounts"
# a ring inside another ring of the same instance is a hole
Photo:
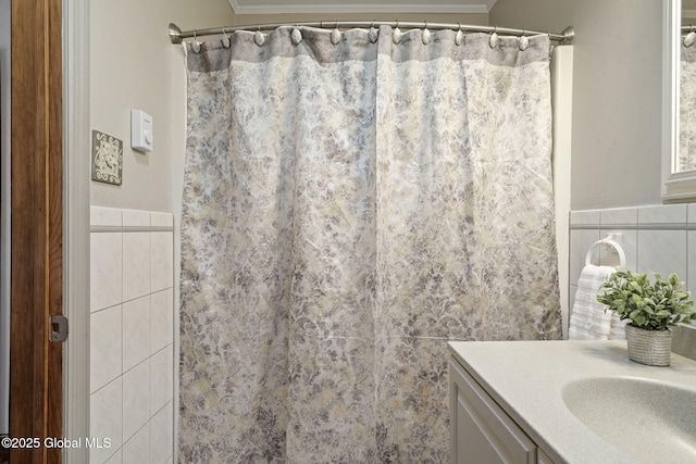
[[[406,21],[314,21],[309,23],[275,23],[275,24],[254,24],[249,26],[229,26],[229,27],[212,27],[208,29],[194,29],[182,30],[176,24],[170,23],[169,33],[172,43],[182,43],[184,39],[196,38],[202,36],[212,36],[234,33],[235,30],[271,30],[283,26],[296,26],[296,27],[340,27],[340,28],[353,28],[353,27],[372,27],[372,26],[391,26],[391,27],[409,27],[409,28],[428,28],[428,29],[453,29],[461,30],[463,33],[500,33],[511,36],[536,36],[546,34],[551,40],[559,41],[561,45],[569,45],[573,41],[575,30],[572,27],[567,27],[560,34],[545,33],[538,30],[526,29],[511,29],[509,27],[498,26],[472,26],[468,24],[453,24],[453,23],[430,23],[425,22],[406,22]]]

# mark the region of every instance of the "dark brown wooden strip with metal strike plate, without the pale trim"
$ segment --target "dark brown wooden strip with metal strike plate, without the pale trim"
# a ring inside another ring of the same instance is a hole
[[[61,0],[12,0],[11,437],[62,437]],[[59,463],[61,449],[12,449],[10,463]]]

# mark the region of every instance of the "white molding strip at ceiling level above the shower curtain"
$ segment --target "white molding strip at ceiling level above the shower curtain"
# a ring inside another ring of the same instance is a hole
[[[235,14],[264,13],[488,13],[497,0],[228,0]]]

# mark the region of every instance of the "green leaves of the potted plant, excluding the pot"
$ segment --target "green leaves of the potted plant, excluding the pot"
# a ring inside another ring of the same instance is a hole
[[[676,274],[667,280],[655,274],[651,284],[647,274],[617,269],[599,287],[605,292],[597,296],[597,301],[608,306],[605,311],[614,311],[621,321],[630,319],[635,327],[667,330],[669,326],[696,321],[691,292],[680,290],[683,285]]]

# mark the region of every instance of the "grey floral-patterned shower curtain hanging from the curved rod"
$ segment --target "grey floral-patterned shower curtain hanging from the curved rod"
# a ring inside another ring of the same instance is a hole
[[[182,462],[446,463],[447,341],[561,336],[548,38],[375,33],[188,46]]]

